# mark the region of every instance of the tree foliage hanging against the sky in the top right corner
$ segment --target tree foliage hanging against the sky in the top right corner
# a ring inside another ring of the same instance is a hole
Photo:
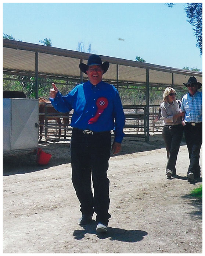
[[[173,7],[175,4],[166,3],[168,7]],[[186,3],[184,10],[187,15],[187,22],[190,23],[194,28],[194,34],[197,38],[197,47],[202,55],[202,3]]]

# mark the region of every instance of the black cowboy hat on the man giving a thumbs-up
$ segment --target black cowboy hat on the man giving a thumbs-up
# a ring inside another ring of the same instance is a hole
[[[102,60],[98,55],[90,55],[90,57],[87,60],[87,65],[84,63],[80,63],[79,68],[81,71],[83,71],[83,73],[87,75],[86,71],[88,70],[88,67],[94,66],[94,65],[101,66],[103,69],[103,74],[105,74],[105,72],[109,68],[109,62],[102,63]]]

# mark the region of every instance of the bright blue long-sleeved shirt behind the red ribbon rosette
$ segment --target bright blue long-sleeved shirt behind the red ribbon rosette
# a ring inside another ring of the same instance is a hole
[[[100,97],[107,98],[108,106],[97,122],[89,124],[89,119],[96,115],[96,101]],[[72,127],[96,132],[114,130],[115,141],[122,142],[125,116],[118,91],[113,85],[101,81],[94,86],[88,81],[77,85],[66,96],[62,96],[58,92],[55,98],[50,98],[50,101],[59,112],[65,113],[74,110],[71,120]]]

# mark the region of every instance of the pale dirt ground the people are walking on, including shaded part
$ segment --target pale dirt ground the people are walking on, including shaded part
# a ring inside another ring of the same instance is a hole
[[[124,138],[109,161],[108,232],[96,234],[95,215],[78,225],[79,202],[71,182],[69,143],[39,144],[52,154],[39,166],[35,155],[4,157],[3,253],[202,253],[202,201],[186,179],[188,151],[181,143],[178,178],[165,175],[161,135]],[[202,167],[202,149],[201,149]],[[201,175],[202,176],[202,175]]]

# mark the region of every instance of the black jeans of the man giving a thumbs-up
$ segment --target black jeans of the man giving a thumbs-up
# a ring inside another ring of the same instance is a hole
[[[97,214],[96,221],[107,225],[109,209],[108,160],[111,133],[83,134],[73,128],[71,137],[72,182],[83,214]],[[91,190],[91,176],[94,195]]]

